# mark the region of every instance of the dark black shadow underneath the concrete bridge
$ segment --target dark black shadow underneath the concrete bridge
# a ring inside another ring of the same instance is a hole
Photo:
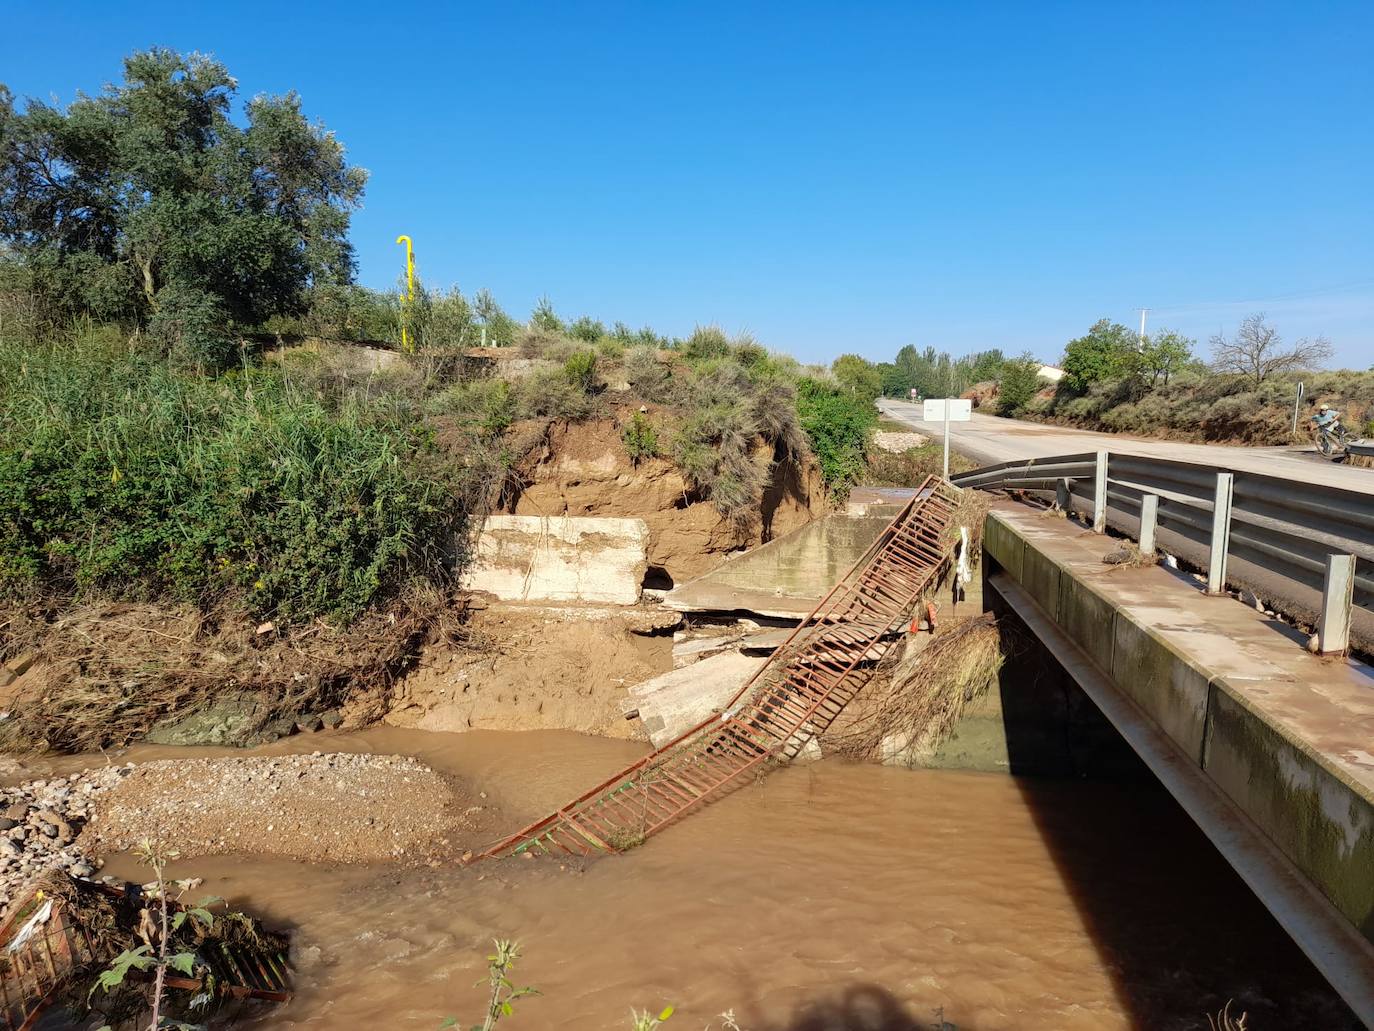
[[[1011,613],[999,690],[1011,773],[1113,973],[1151,1031],[1360,1021],[1131,746]],[[1123,801],[1125,800],[1125,801]]]

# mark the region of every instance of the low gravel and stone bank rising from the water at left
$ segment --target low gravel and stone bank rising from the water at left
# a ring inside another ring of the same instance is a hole
[[[408,756],[166,759],[0,789],[0,916],[54,869],[95,876],[143,841],[181,859],[245,852],[302,862],[455,861],[493,811]]]

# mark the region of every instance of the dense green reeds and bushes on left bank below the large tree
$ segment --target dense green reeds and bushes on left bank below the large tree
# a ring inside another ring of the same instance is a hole
[[[348,623],[453,565],[467,474],[404,390],[179,371],[120,334],[0,342],[0,591]]]

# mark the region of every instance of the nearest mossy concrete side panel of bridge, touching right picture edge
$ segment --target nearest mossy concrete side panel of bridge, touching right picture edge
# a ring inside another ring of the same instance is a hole
[[[1289,740],[1224,679],[1213,682],[1202,768],[1374,942],[1374,806]]]

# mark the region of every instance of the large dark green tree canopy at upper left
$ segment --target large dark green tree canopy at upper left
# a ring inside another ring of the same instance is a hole
[[[0,241],[65,312],[151,319],[164,301],[242,324],[353,274],[367,173],[295,93],[231,117],[224,65],[133,54],[122,82],[62,110],[0,85]]]

